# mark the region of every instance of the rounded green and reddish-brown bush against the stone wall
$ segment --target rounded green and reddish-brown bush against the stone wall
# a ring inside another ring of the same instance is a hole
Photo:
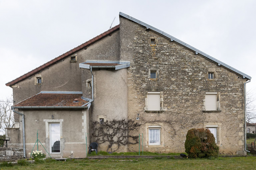
[[[186,135],[185,151],[189,158],[217,158],[219,146],[207,128],[190,129]]]

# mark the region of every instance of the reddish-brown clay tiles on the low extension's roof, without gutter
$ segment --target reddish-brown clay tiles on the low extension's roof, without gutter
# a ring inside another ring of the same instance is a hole
[[[74,99],[78,99],[74,102]],[[82,99],[82,94],[52,94],[39,93],[24,101],[15,104],[14,107],[21,106],[83,106],[89,101]]]

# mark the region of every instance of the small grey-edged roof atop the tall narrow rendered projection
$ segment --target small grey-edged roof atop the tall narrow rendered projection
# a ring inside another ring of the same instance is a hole
[[[101,60],[87,60],[85,63],[79,63],[80,68],[90,69],[124,69],[130,67],[130,62],[120,62],[120,61],[101,61]]]

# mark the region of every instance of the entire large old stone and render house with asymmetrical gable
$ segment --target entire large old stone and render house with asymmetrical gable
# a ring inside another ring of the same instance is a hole
[[[82,158],[96,140],[91,122],[131,120],[139,126],[128,136],[143,134],[144,151],[184,152],[189,129],[209,128],[220,153],[246,154],[244,92],[251,77],[122,12],[119,20],[6,84],[16,122],[6,129],[9,146],[23,147],[28,157],[39,130],[52,156]],[[127,140],[113,147],[138,151]]]

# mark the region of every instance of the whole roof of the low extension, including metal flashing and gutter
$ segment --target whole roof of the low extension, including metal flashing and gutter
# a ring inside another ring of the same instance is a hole
[[[75,101],[77,99],[77,101]],[[40,92],[17,104],[14,108],[64,108],[64,107],[84,107],[89,102],[82,97],[82,92]]]

